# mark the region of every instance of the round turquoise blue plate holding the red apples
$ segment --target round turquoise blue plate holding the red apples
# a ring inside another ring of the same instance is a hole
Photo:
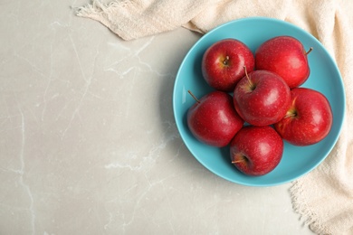
[[[203,79],[201,60],[205,50],[214,42],[224,38],[235,38],[249,46],[255,52],[262,42],[279,35],[291,35],[300,40],[310,52],[310,77],[301,85],[319,90],[328,99],[333,112],[333,126],[329,136],[312,146],[292,146],[284,142],[281,163],[269,174],[248,176],[240,173],[231,164],[229,147],[217,148],[200,143],[190,133],[186,124],[186,112],[195,99],[187,90],[190,89],[201,98],[211,89]],[[208,170],[224,179],[249,186],[272,186],[288,183],[303,174],[309,173],[320,164],[335,146],[345,114],[345,93],[339,69],[329,52],[322,44],[301,28],[272,18],[253,17],[235,20],[223,24],[206,33],[186,54],[176,75],[173,92],[173,108],[176,126],[189,151]]]

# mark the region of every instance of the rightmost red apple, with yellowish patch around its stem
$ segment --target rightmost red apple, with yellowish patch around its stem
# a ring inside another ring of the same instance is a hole
[[[274,124],[283,139],[294,146],[320,142],[332,126],[329,100],[317,90],[291,89],[291,107],[280,122]]]

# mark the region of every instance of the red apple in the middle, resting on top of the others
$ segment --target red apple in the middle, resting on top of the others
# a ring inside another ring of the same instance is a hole
[[[290,105],[291,89],[271,71],[252,71],[234,89],[235,110],[253,126],[268,126],[280,121]]]

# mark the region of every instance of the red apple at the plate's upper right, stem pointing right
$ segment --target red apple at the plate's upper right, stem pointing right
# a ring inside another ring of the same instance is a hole
[[[278,36],[263,42],[255,52],[256,70],[273,71],[293,89],[310,75],[308,56],[302,43],[291,36]]]

